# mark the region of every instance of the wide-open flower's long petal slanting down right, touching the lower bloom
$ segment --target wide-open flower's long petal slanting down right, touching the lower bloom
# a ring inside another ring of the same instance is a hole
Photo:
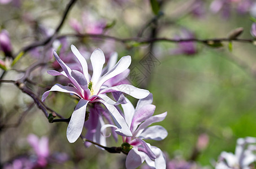
[[[118,132],[118,134],[122,133],[121,135],[131,137],[132,132],[130,131],[123,116],[118,112],[118,109],[116,109],[114,105],[107,104],[104,100],[101,100],[101,103],[106,106],[107,110],[109,110],[112,118],[114,119],[116,127],[118,127],[118,129],[116,129],[115,131]]]

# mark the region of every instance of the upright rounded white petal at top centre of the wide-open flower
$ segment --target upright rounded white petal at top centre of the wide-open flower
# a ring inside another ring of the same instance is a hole
[[[100,50],[99,48],[94,50],[92,55],[90,56],[90,61],[93,66],[93,75],[91,81],[94,85],[97,85],[99,77],[101,77],[103,65],[105,64],[105,55],[103,54],[102,50]],[[96,86],[94,86],[94,92],[96,94],[98,93],[98,90],[99,88],[97,89]]]

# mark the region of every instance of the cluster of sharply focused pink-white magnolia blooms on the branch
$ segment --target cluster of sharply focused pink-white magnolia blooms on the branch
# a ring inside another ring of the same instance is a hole
[[[42,101],[45,101],[51,91],[66,92],[79,97],[79,102],[68,123],[68,141],[74,143],[85,127],[87,129],[85,140],[106,146],[105,129],[111,127],[115,140],[118,139],[117,135],[123,137],[121,147],[122,152],[127,154],[125,163],[127,168],[136,168],[144,161],[153,168],[166,168],[166,159],[162,151],[144,140],[162,140],[167,136],[167,131],[162,126],[148,127],[152,123],[163,121],[167,112],[153,115],[155,110],[155,105],[151,104],[153,95],[147,90],[126,83],[131,56],[124,56],[116,63],[118,55],[114,53],[107,66],[103,68],[105,55],[97,48],[90,56],[91,75],[85,57],[73,45],[71,51],[78,61],[76,69],[71,69],[54,51],[54,57],[63,71],[49,70],[48,73],[64,75],[72,84],[63,86],[57,83],[42,95]],[[135,109],[124,94],[140,99]],[[89,110],[89,118],[86,109]],[[85,141],[85,146],[90,144]]]

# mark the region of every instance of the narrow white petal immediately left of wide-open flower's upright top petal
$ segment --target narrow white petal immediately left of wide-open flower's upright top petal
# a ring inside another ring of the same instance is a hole
[[[79,50],[77,50],[77,48],[74,45],[71,45],[71,51],[73,52],[73,54],[76,56],[77,60],[79,61],[87,83],[90,82],[89,74],[88,74],[88,65],[87,65],[87,62],[86,62],[84,56],[81,55]]]

